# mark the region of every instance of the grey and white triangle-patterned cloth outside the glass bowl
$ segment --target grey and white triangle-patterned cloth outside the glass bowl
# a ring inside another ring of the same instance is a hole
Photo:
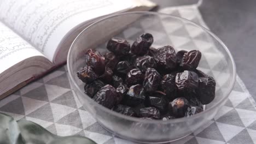
[[[196,5],[160,10],[181,16],[205,26]],[[124,33],[131,37],[130,33]],[[200,33],[193,35],[200,40]],[[51,133],[81,135],[97,143],[132,143],[104,130],[73,96],[66,65],[0,101],[0,112],[16,120],[27,119],[42,125]],[[204,127],[173,143],[256,143],[255,101],[237,76],[229,100],[217,116]]]

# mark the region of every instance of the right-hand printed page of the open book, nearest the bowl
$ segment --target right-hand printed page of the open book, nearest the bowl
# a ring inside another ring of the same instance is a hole
[[[135,7],[119,0],[1,0],[0,20],[53,61],[55,50],[75,26]]]

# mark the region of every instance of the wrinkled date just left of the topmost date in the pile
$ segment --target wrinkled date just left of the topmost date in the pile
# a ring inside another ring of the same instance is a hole
[[[108,41],[107,49],[116,55],[126,55],[131,48],[127,40],[112,38]]]

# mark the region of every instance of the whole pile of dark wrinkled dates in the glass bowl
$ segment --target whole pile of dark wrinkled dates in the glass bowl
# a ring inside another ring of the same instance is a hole
[[[152,34],[132,44],[121,38],[108,41],[108,52],[89,49],[77,76],[84,92],[96,103],[126,116],[143,119],[190,117],[215,97],[216,82],[197,66],[201,52],[177,51],[170,45],[151,47]]]

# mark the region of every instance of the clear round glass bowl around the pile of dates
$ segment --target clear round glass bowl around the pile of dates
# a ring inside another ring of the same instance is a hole
[[[77,70],[85,65],[84,52],[95,49],[107,51],[106,41],[112,37],[127,39],[131,44],[143,32],[154,37],[153,47],[172,45],[178,50],[200,50],[198,69],[216,80],[216,98],[205,105],[205,111],[189,118],[169,121],[139,119],[121,115],[97,104],[84,93],[84,84]],[[195,23],[167,14],[132,12],[108,16],[85,28],[73,41],[67,59],[71,87],[84,108],[105,129],[123,139],[162,143],[181,139],[210,121],[222,107],[234,86],[236,68],[228,48],[213,33]]]

